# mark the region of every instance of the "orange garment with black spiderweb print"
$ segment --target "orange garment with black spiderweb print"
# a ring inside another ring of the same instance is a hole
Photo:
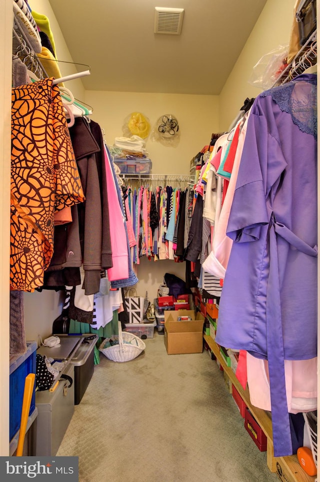
[[[19,233],[21,223],[29,222],[26,231],[38,228],[45,238],[45,242],[38,239],[43,271],[53,252],[54,211],[84,201],[59,88],[52,80],[12,89],[11,194],[15,208],[14,215],[11,212],[10,282],[14,290],[33,291],[43,279],[37,275],[38,255],[33,257],[28,251],[27,262],[17,256],[25,248],[24,230]],[[34,253],[39,248],[35,244],[30,247]]]

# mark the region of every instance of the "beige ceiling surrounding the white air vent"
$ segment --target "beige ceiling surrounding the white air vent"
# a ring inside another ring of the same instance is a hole
[[[219,94],[266,0],[50,0],[87,90]],[[180,35],[154,7],[184,8]]]

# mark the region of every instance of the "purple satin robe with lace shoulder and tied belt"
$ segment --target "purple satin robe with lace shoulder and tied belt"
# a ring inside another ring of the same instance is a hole
[[[316,357],[316,151],[316,75],[255,99],[227,226],[233,244],[216,342],[268,360],[275,457],[292,454],[284,360]]]

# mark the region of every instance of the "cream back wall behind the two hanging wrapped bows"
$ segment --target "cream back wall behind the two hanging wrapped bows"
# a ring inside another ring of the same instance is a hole
[[[151,127],[163,114],[173,114],[179,123],[176,147],[146,140],[153,174],[189,174],[191,158],[211,139],[218,128],[218,97],[212,95],[102,92],[87,90],[85,102],[93,107],[92,119],[105,131],[107,144],[123,136],[124,120],[131,112],[141,112]]]

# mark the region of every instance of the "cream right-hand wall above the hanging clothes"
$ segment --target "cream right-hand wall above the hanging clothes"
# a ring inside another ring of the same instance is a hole
[[[223,89],[219,95],[219,128],[228,130],[246,97],[256,97],[261,90],[248,83],[252,69],[262,55],[287,45],[293,22],[295,0],[268,0],[254,25]]]

